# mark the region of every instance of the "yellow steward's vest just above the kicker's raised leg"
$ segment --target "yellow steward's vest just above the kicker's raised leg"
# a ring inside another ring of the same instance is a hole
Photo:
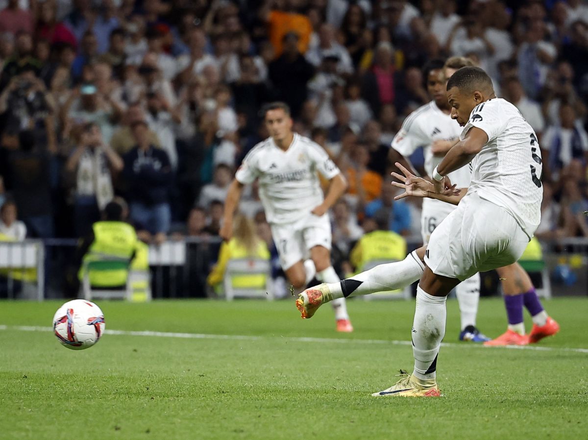
[[[406,240],[396,232],[368,232],[353,246],[350,262],[357,271],[374,260],[403,260],[406,256]]]

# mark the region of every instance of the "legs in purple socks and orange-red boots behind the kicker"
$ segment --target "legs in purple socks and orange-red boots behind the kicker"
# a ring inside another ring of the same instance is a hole
[[[559,324],[544,311],[529,275],[520,264],[498,268],[496,272],[505,294],[508,328],[504,334],[486,345],[526,345],[559,331]],[[533,330],[529,336],[524,334],[523,306],[533,319]]]

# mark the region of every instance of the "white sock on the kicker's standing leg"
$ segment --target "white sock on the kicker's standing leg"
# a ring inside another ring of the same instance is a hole
[[[416,289],[415,320],[412,324],[412,353],[415,356],[415,371],[419,379],[435,379],[437,354],[445,336],[446,296],[432,296],[420,288]]]

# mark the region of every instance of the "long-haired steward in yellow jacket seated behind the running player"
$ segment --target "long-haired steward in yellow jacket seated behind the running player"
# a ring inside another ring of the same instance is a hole
[[[256,232],[253,221],[239,214],[235,216],[233,238],[220,245],[219,259],[206,282],[215,291],[222,291],[226,265],[231,259],[262,258],[269,260],[268,246]],[[266,275],[235,275],[231,282],[236,288],[265,288]]]

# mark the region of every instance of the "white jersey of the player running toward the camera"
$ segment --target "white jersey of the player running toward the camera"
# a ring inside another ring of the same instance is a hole
[[[326,179],[339,174],[339,168],[320,145],[295,133],[286,151],[272,138],[254,146],[235,178],[242,184],[259,179],[259,198],[268,222],[288,224],[323,202],[317,171]]]

